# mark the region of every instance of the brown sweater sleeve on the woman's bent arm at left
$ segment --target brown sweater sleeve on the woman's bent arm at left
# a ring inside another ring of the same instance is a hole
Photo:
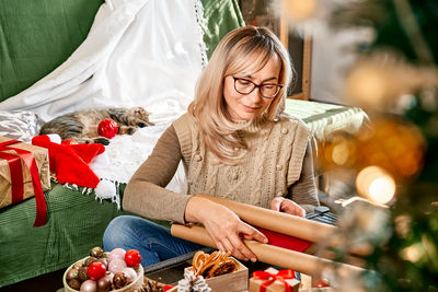
[[[170,126],[126,186],[124,210],[150,219],[185,223],[184,212],[191,196],[164,188],[181,159],[180,141],[175,129]]]

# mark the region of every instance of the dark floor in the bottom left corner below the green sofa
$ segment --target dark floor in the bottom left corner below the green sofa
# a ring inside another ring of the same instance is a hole
[[[35,277],[12,285],[0,288],[1,292],[56,292],[61,289],[66,269]]]

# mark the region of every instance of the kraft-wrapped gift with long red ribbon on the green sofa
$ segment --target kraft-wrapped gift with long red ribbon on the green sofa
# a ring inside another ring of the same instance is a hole
[[[0,208],[35,196],[34,226],[46,223],[43,190],[50,188],[47,149],[0,137]]]

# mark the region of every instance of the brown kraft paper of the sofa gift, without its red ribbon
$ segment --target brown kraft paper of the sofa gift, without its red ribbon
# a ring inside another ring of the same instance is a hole
[[[0,143],[9,141],[11,139],[5,137],[0,137]],[[50,172],[48,164],[48,150],[41,147],[35,147],[28,143],[15,143],[10,144],[8,148],[18,148],[32,152],[35,157],[36,166],[38,168],[38,174],[42,183],[43,190],[50,189]],[[2,148],[2,152],[15,154],[14,151],[4,150]],[[33,197],[34,187],[32,184],[32,175],[24,163],[22,163],[22,174],[23,174],[23,200]],[[14,174],[12,174],[14,175]],[[9,167],[9,163],[4,159],[0,159],[0,208],[9,206],[12,203],[12,179],[11,179],[11,171]]]

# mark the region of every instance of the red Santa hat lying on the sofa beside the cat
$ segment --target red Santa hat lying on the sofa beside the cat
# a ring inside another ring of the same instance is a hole
[[[60,140],[59,136],[42,135],[34,137],[32,144],[48,149],[50,172],[55,173],[58,182],[95,188],[101,180],[90,168],[89,163],[103,153],[105,147],[103,144],[59,144],[54,142],[56,140]]]

